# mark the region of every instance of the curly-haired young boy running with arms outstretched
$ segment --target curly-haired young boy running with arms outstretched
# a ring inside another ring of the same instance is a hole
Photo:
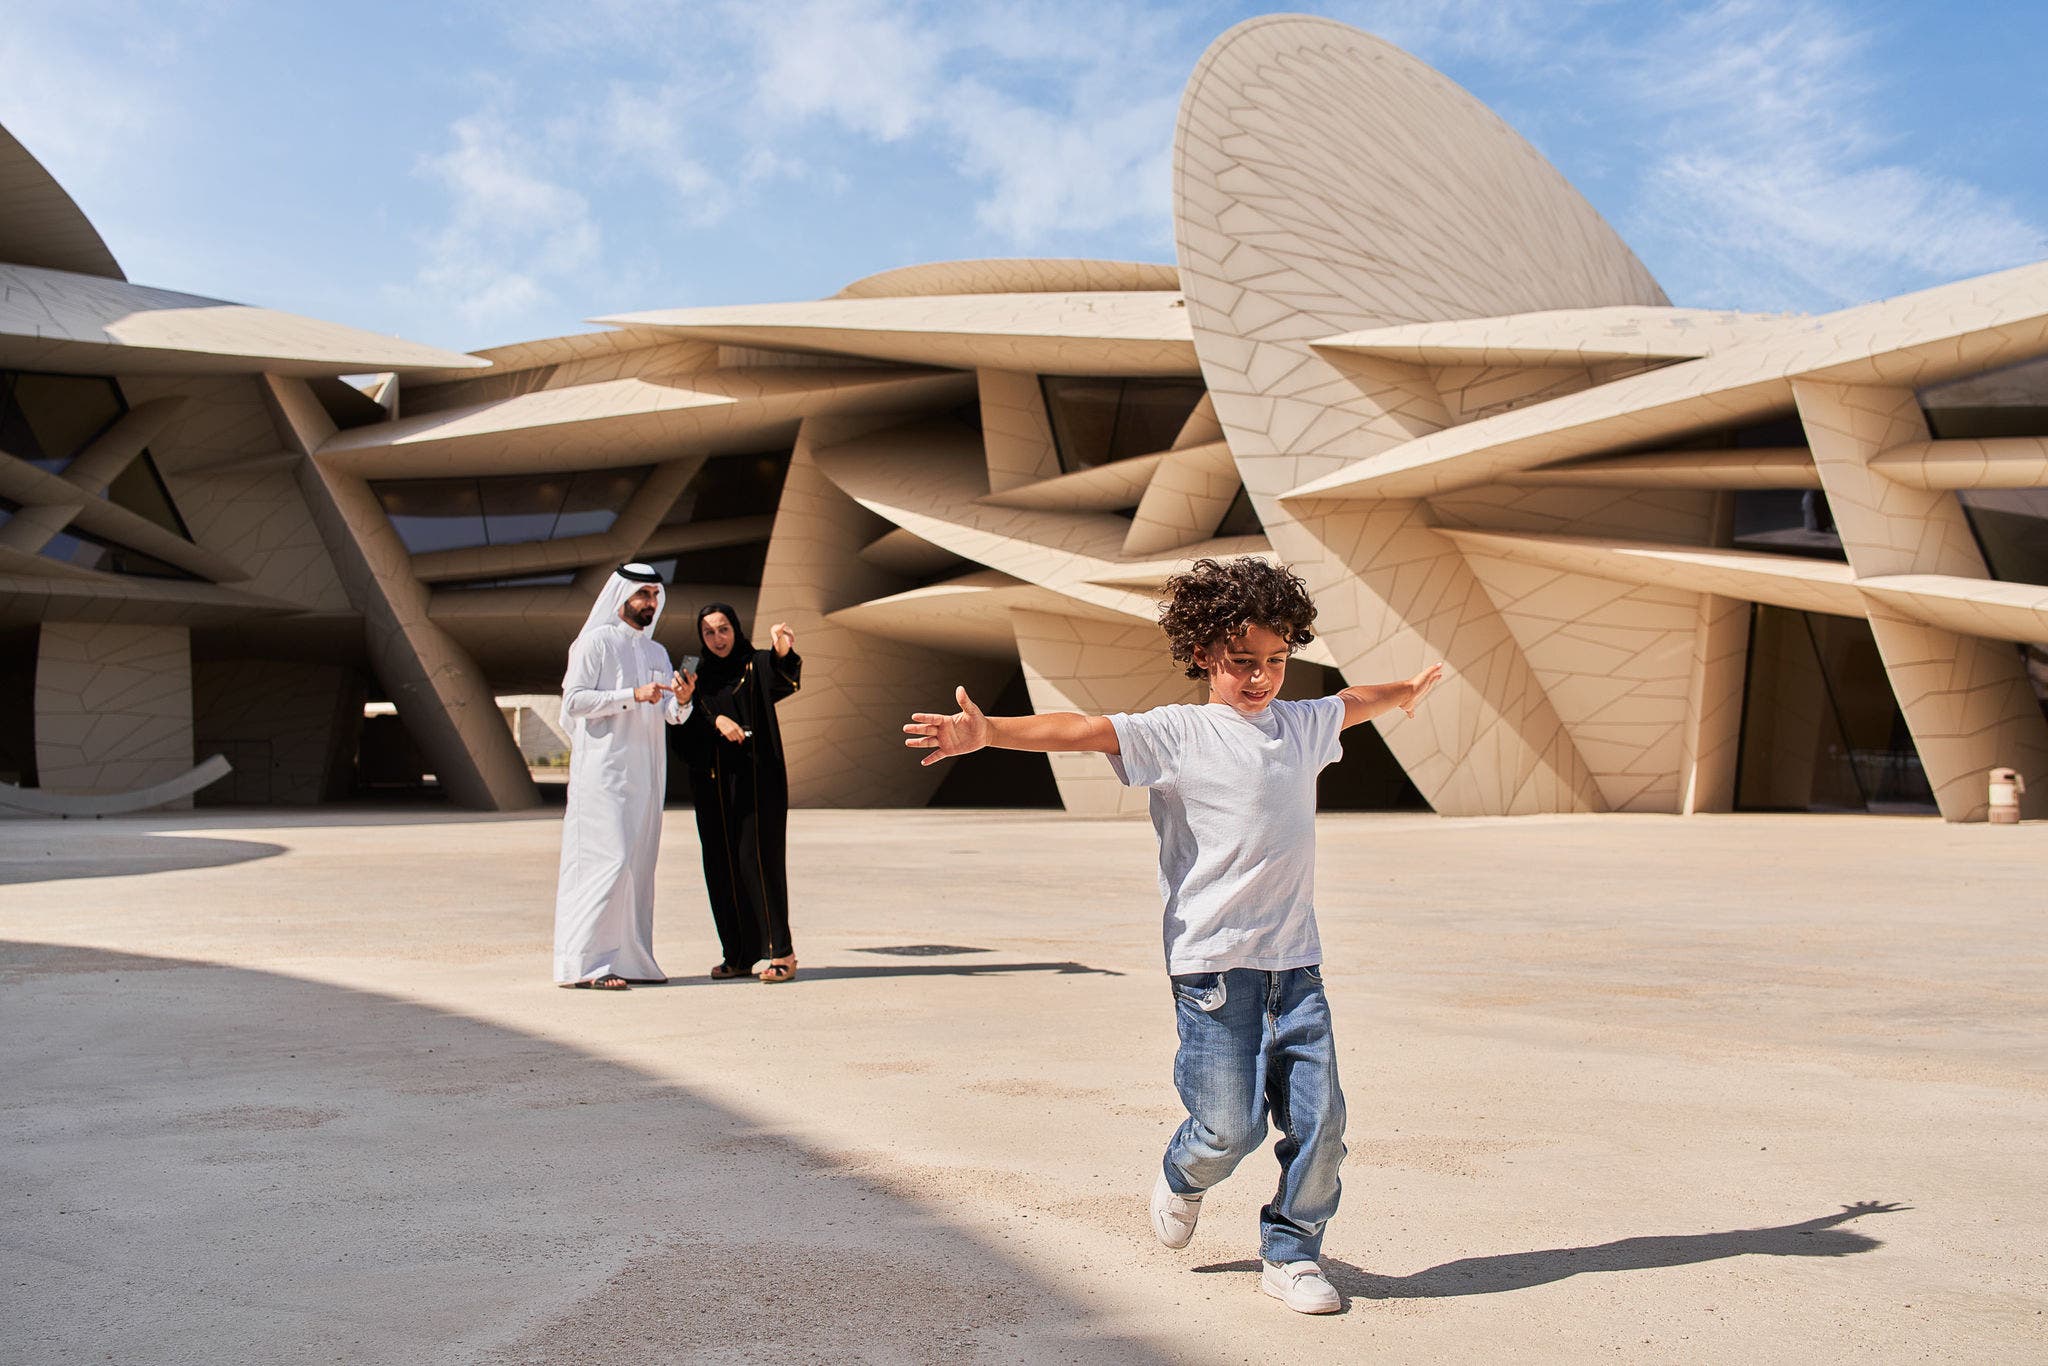
[[[1151,788],[1165,895],[1165,963],[1188,1106],[1153,1186],[1153,1233],[1186,1247],[1202,1192],[1280,1130],[1280,1190],[1260,1212],[1260,1288],[1300,1313],[1335,1313],[1317,1257],[1337,1212],[1343,1092],[1315,934],[1315,778],[1341,758],[1337,731],[1399,707],[1409,717],[1444,666],[1313,700],[1274,700],[1288,655],[1315,639],[1307,586],[1264,559],[1198,559],[1159,610],[1174,659],[1208,680],[1206,705],[1139,715],[915,713],[905,745],[926,764],[983,745],[1092,750]]]

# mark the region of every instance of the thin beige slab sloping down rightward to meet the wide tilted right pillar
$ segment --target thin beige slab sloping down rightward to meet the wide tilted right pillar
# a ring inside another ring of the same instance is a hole
[[[1571,573],[1589,573],[1616,584],[1659,584],[1714,592],[1835,616],[1862,616],[1866,610],[1849,567],[1827,559],[1599,537],[1532,537],[1454,528],[1444,528],[1438,535],[1468,555],[1499,555]]]

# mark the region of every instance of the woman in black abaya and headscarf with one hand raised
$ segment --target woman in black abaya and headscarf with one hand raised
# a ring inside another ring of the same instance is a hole
[[[760,979],[797,977],[788,938],[788,768],[774,705],[803,682],[797,633],[776,623],[772,649],[756,649],[725,602],[696,612],[705,661],[696,672],[696,709],[670,727],[670,743],[690,766],[696,838],[705,848],[705,891],[725,958],[713,979],[745,977],[766,958]]]

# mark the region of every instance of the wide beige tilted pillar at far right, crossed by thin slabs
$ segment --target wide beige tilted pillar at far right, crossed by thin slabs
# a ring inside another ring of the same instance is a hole
[[[1886,449],[1929,438],[1913,389],[1812,379],[1792,389],[1860,578],[1989,580],[1956,496],[1892,483],[1872,463]],[[1870,598],[1870,629],[1944,819],[1985,819],[1985,776],[1997,766],[2021,770],[2030,788],[2048,788],[2048,721],[2019,651],[1931,627],[1880,598]],[[2048,797],[2023,805],[2048,811]]]

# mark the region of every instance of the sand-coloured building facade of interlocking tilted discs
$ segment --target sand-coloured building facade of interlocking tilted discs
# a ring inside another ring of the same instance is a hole
[[[647,559],[797,629],[799,803],[922,805],[905,711],[1184,700],[1157,590],[1255,553],[1323,610],[1298,688],[1450,664],[1339,805],[1968,821],[2011,766],[2048,815],[2048,264],[1671,307],[1513,129],[1343,25],[1202,57],[1176,266],[907,266],[473,356],[129,285],[12,141],[0,184],[0,371],[49,432],[0,440],[33,698],[0,778],[221,752],[201,801],[432,772],[530,805],[494,698]],[[1137,809],[1100,760],[1001,774],[969,799]]]

